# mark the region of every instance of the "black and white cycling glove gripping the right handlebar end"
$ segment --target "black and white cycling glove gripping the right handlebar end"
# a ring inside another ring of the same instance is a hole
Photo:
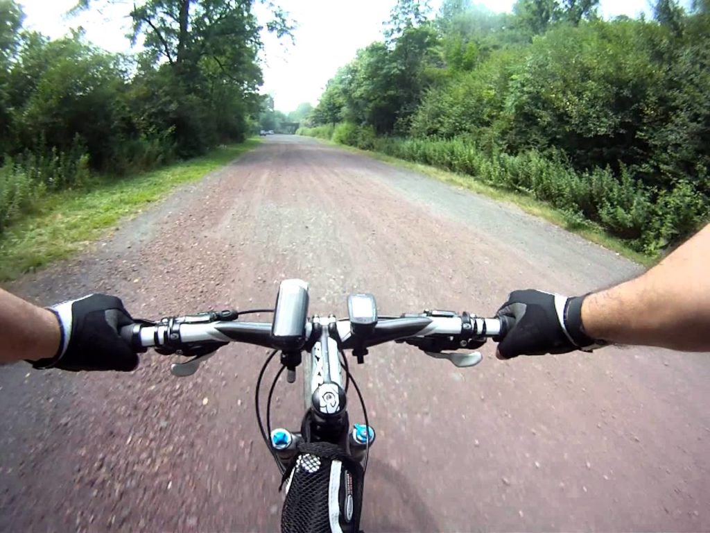
[[[506,323],[506,334],[498,344],[498,358],[518,355],[591,351],[606,345],[594,340],[581,323],[585,296],[560,296],[527,289],[513,291],[496,316]]]

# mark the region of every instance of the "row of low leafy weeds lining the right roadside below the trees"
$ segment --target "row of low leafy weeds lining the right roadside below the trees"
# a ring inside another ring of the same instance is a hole
[[[339,124],[338,139],[357,141],[359,131]],[[457,139],[374,139],[383,154],[472,176],[478,181],[531,195],[567,214],[570,225],[593,224],[626,241],[629,247],[655,255],[692,235],[710,219],[710,202],[688,181],[672,190],[655,189],[635,180],[624,166],[579,172],[563,154],[488,154],[473,141]]]

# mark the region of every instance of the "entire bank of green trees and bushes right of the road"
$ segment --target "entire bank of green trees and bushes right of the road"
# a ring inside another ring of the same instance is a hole
[[[710,219],[710,0],[657,1],[655,21],[603,21],[598,5],[442,0],[427,21],[399,1],[313,113],[345,124],[317,133],[525,191],[656,252]]]

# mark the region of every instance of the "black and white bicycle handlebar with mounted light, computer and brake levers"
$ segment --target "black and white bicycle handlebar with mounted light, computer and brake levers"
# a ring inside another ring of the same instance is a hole
[[[504,317],[479,318],[452,311],[425,311],[378,319],[371,294],[349,296],[350,320],[338,321],[335,316],[308,319],[307,310],[308,284],[300,279],[287,279],[280,284],[273,322],[239,320],[240,314],[257,310],[209,311],[167,317],[157,323],[137,321],[121,328],[121,337],[136,352],[155,348],[166,355],[195,356],[187,363],[173,365],[176,375],[194,373],[200,360],[232,342],[280,350],[283,364],[293,374],[300,363],[300,352],[313,350],[318,343],[322,350],[327,350],[325,344],[331,340],[339,352],[352,350],[358,362],[363,362],[368,348],[394,341],[414,345],[432,357],[447,358],[457,366],[472,366],[481,360],[479,353],[462,355],[449,351],[479,348],[491,337],[500,340],[511,325]]]

